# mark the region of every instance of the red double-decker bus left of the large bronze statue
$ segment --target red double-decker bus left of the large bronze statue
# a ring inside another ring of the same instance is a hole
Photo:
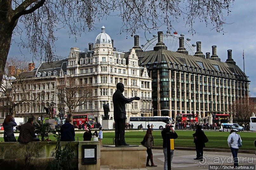
[[[73,117],[73,124],[77,126],[79,124],[90,124],[92,128],[94,128],[94,118],[92,114],[75,114],[72,115]]]

